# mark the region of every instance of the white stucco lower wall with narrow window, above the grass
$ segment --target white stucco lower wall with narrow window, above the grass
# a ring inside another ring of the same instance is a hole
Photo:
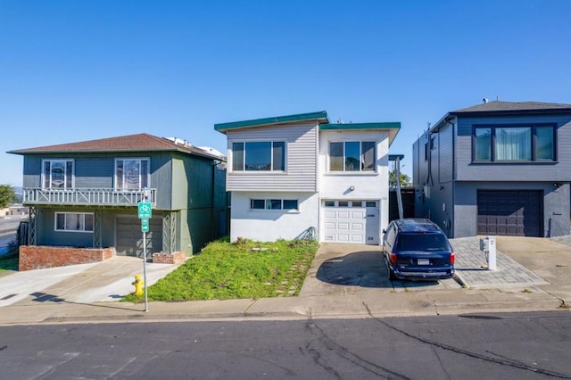
[[[251,199],[297,199],[299,211],[251,210]],[[291,240],[309,227],[319,228],[319,195],[294,192],[232,192],[230,240]]]

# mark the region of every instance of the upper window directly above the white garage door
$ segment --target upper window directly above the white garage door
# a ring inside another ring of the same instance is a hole
[[[375,171],[374,141],[329,143],[329,171]]]

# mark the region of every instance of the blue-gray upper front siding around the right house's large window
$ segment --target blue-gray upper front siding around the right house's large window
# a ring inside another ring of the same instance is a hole
[[[474,125],[554,123],[557,125],[557,161],[523,163],[473,163]],[[458,120],[456,145],[457,180],[476,181],[568,181],[571,178],[571,115],[504,116]]]

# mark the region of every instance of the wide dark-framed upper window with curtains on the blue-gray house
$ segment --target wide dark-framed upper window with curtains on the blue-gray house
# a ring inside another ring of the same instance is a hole
[[[553,126],[474,128],[474,161],[554,161]]]

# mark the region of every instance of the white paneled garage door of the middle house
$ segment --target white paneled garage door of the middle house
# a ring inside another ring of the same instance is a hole
[[[325,243],[378,244],[377,201],[323,201]]]

